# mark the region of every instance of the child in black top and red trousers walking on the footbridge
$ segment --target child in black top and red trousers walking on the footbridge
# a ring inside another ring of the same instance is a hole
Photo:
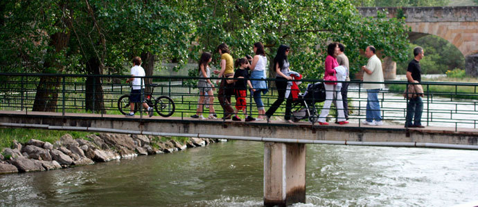
[[[247,72],[246,68],[249,67],[249,61],[245,58],[240,58],[236,60],[236,67],[239,67],[234,71],[234,78],[235,80],[227,80],[227,83],[234,83],[234,92],[236,94],[236,108],[234,112],[236,115],[232,117],[233,121],[240,121],[238,117],[239,110],[242,110],[244,115],[246,115],[245,121],[254,121],[256,119],[252,118],[251,116],[247,116],[246,113],[246,97],[247,97],[247,86],[251,88],[254,92],[254,88],[252,88],[251,81],[249,81],[249,73]]]

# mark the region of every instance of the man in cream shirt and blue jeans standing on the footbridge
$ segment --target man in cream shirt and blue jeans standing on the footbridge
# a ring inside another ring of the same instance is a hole
[[[365,56],[369,58],[366,66],[362,66],[364,70],[365,82],[383,82],[382,61],[375,55],[375,47],[368,46],[365,49]],[[384,83],[363,83],[363,87],[367,92],[366,100],[366,120],[362,124],[382,125],[382,117],[380,116],[380,102],[378,101],[378,91],[385,88]]]

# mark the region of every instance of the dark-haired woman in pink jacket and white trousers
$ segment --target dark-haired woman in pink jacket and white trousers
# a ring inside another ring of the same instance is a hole
[[[327,47],[327,57],[326,57],[326,71],[324,74],[324,81],[337,81],[337,77],[335,76],[335,67],[339,66],[337,63],[337,55],[339,55],[340,48],[339,43],[330,43]],[[322,108],[319,116],[319,124],[320,125],[328,125],[326,122],[326,117],[328,116],[328,112],[330,110],[330,105],[335,97],[337,97],[337,112],[339,116],[337,117],[337,121],[339,124],[348,124],[348,121],[345,119],[344,115],[344,104],[342,103],[342,94],[340,90],[337,90],[337,82],[324,82],[324,86],[326,88],[326,101],[324,103],[324,107]]]

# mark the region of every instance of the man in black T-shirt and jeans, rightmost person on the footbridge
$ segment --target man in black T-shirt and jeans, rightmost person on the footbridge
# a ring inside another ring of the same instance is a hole
[[[420,83],[421,82],[421,66],[420,60],[425,56],[423,55],[423,48],[416,47],[414,48],[415,58],[410,61],[407,68],[407,80],[410,83]],[[405,120],[405,128],[424,128],[421,124],[423,112],[423,101],[422,97],[416,96],[409,99],[407,106],[407,117]],[[414,124],[411,124],[411,119],[414,118]]]

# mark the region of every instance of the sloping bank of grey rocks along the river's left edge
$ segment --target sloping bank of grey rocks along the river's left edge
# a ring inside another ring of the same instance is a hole
[[[52,138],[48,137],[48,139]],[[19,142],[14,140],[10,148],[1,150],[0,174],[85,166],[139,155],[157,155],[186,150],[186,148],[206,146],[218,141],[224,140],[183,137],[178,140],[177,137],[171,139],[150,135],[109,133],[90,133],[76,139],[66,133],[54,141],[28,139],[28,141]]]

